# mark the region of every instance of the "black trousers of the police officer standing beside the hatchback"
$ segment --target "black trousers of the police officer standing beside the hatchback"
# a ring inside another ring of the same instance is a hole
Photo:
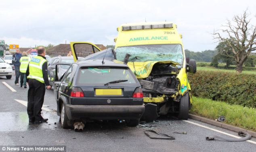
[[[27,114],[29,119],[41,121],[42,106],[44,103],[45,84],[35,79],[29,79]]]

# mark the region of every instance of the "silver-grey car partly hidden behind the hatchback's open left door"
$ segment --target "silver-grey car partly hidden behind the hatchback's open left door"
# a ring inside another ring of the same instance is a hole
[[[72,64],[74,63],[74,59],[73,57],[54,57],[51,58],[50,62],[48,63],[48,76],[50,80],[53,80],[55,78],[55,66],[56,64],[59,63],[68,63],[68,64]],[[67,69],[69,68],[69,65],[61,65],[58,68],[58,76],[62,76],[63,74],[65,74],[65,72],[67,71]],[[53,86],[53,82],[50,81],[50,85]]]

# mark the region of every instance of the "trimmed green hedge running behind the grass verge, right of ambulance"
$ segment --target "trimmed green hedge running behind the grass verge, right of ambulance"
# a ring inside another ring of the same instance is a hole
[[[197,71],[189,74],[192,94],[244,107],[256,107],[256,75]]]

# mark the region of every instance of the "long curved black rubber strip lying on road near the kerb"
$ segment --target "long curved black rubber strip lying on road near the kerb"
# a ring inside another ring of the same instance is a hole
[[[220,137],[220,136],[209,136],[209,137],[206,137],[206,140],[214,140],[216,138],[216,139],[224,140],[227,142],[243,142],[246,140],[250,140],[252,138],[252,136],[245,131],[239,131],[238,135],[243,136],[243,138],[237,139],[237,138],[224,138],[224,137]]]

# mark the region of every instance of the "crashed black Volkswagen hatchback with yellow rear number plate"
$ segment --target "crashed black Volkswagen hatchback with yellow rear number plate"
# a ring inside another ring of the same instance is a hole
[[[125,120],[132,127],[138,125],[145,110],[141,85],[123,62],[73,63],[54,87],[63,128],[95,119]]]

